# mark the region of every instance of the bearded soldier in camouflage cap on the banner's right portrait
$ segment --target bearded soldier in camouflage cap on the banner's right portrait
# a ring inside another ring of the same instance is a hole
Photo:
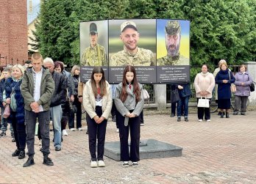
[[[178,21],[166,23],[167,55],[157,59],[157,65],[189,65],[189,59],[179,54],[181,28]]]

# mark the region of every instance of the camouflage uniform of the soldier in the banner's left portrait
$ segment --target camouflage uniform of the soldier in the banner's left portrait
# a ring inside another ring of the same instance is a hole
[[[82,54],[81,65],[85,66],[107,66],[107,55],[102,45],[96,44],[95,47],[85,48]]]

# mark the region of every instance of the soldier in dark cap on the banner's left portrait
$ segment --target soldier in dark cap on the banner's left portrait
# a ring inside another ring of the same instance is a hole
[[[96,23],[90,23],[90,47],[82,54],[82,66],[107,66],[107,55],[104,47],[97,43],[98,31]]]

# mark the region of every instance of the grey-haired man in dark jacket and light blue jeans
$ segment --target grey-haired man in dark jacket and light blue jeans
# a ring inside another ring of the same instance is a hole
[[[54,80],[54,94],[51,97],[51,118],[54,125],[54,147],[55,151],[61,150],[61,117],[63,110],[61,104],[65,102],[66,97],[66,81],[61,73],[54,71],[54,62],[51,58],[43,59],[43,66],[50,70],[51,76]]]

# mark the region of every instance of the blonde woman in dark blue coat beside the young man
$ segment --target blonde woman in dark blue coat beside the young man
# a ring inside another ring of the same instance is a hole
[[[25,110],[24,98],[21,95],[21,81],[24,74],[24,67],[14,65],[10,78],[7,78],[4,83],[4,106],[10,106],[10,117],[8,122],[13,124],[13,132],[16,141],[17,149],[13,152],[13,157],[18,159],[25,158],[26,147],[26,125],[25,125]]]

